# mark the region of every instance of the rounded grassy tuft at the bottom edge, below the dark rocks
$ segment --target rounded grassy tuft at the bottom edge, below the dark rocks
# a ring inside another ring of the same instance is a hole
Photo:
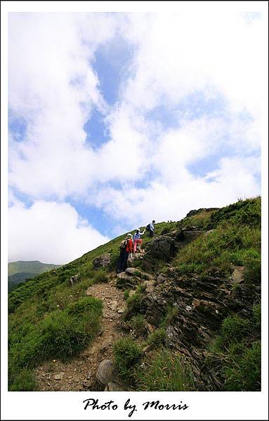
[[[141,392],[179,392],[195,389],[188,360],[167,349],[157,352],[147,366],[136,370]]]

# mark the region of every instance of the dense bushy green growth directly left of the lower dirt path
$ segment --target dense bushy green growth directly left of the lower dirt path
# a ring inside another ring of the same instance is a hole
[[[46,359],[77,355],[98,333],[102,309],[101,300],[85,297],[45,315],[34,325],[25,323],[24,330],[16,326],[9,338],[11,377]],[[18,376],[11,381],[12,390]]]

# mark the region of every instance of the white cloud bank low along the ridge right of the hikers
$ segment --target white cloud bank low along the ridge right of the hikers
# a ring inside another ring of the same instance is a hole
[[[96,193],[95,201],[112,219],[116,215],[130,228],[145,226],[153,218],[157,222],[180,220],[191,209],[221,207],[240,197],[256,196],[259,172],[258,158],[226,158],[204,178],[186,173],[185,178],[166,183],[161,177],[147,189],[107,188]]]

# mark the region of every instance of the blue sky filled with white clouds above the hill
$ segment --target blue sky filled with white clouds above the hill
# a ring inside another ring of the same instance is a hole
[[[8,260],[261,194],[261,13],[9,13]]]

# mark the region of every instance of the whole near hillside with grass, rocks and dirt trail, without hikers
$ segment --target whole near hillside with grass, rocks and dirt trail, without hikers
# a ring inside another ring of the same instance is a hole
[[[124,237],[9,294],[9,389],[260,390],[261,198]]]

